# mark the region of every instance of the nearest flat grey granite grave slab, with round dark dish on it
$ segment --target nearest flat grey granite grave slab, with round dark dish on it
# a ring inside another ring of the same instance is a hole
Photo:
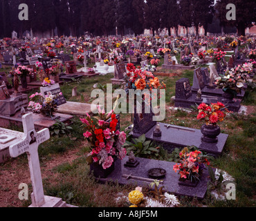
[[[190,198],[197,198],[203,200],[205,193],[208,190],[208,182],[210,182],[209,174],[206,169],[203,170],[203,175],[200,182],[196,187],[192,186],[181,186],[179,185],[179,175],[174,172],[173,166],[175,162],[167,162],[161,160],[151,160],[146,158],[135,157],[135,162],[138,165],[135,167],[126,166],[129,162],[129,156],[125,156],[120,164],[115,163],[114,171],[107,178],[97,178],[98,182],[105,184],[106,182],[118,182],[120,185],[134,185],[148,188],[149,184],[156,180],[155,178],[149,177],[148,171],[153,168],[165,169],[165,177],[159,179],[158,188],[165,187],[167,193],[175,195],[187,196]],[[116,166],[118,165],[118,166]],[[214,169],[213,169],[214,170]],[[152,189],[153,191],[154,189]]]

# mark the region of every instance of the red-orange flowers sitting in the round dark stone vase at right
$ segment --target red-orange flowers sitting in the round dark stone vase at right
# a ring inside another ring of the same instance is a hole
[[[207,125],[216,125],[217,122],[223,122],[226,117],[226,113],[228,113],[228,109],[221,102],[210,105],[202,103],[197,108],[199,110],[199,114],[196,119],[204,119],[205,124]]]

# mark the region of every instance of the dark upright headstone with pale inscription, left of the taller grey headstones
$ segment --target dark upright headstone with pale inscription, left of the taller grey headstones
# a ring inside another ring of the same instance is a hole
[[[188,78],[181,78],[176,81],[176,98],[188,99],[192,96],[190,80]]]

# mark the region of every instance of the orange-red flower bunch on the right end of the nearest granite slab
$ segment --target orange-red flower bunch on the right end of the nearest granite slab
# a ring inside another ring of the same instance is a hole
[[[181,153],[179,153],[179,164],[175,164],[173,166],[173,170],[175,173],[179,171],[179,175],[181,175],[180,179],[182,181],[190,180],[194,182],[199,180],[201,173],[203,173],[203,169],[206,165],[210,165],[208,161],[208,157],[203,155],[201,151],[190,151],[188,148],[183,148]]]

